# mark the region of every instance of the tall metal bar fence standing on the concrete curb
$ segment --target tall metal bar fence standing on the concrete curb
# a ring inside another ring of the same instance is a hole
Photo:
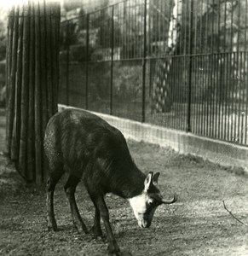
[[[247,145],[248,0],[127,0],[61,23],[60,102]]]

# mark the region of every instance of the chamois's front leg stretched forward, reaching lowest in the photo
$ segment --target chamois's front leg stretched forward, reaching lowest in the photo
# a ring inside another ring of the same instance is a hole
[[[121,255],[117,241],[115,240],[113,233],[112,233],[112,228],[109,223],[108,209],[107,209],[106,203],[103,199],[103,196],[98,196],[95,199],[95,205],[99,209],[100,214],[101,214],[101,219],[103,220],[103,223],[105,225],[109,252],[114,255]]]

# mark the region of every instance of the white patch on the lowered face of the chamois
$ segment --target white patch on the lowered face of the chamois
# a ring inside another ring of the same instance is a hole
[[[141,195],[136,195],[130,198],[129,201],[139,226],[141,228],[145,228],[147,225],[150,225],[157,207],[153,207],[153,209],[151,209],[147,214],[147,204],[153,202],[153,199],[143,191]]]

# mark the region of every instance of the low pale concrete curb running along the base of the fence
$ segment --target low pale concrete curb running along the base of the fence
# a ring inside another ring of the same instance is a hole
[[[68,108],[60,105],[60,109]],[[95,112],[92,112],[95,113]],[[242,167],[248,173],[248,148],[226,143],[192,133],[176,131],[158,125],[149,125],[130,119],[122,119],[105,113],[95,113],[120,131],[124,137],[137,142],[159,144],[173,148],[179,154],[193,154],[221,166]]]

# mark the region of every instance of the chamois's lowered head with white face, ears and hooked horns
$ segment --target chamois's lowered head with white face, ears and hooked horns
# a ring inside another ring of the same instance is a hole
[[[165,201],[157,188],[160,173],[149,172],[145,182],[144,189],[140,195],[130,198],[130,206],[133,208],[138,224],[141,228],[148,228],[152,224],[153,215],[157,207],[162,204],[172,204],[176,202],[177,195],[174,198]]]

